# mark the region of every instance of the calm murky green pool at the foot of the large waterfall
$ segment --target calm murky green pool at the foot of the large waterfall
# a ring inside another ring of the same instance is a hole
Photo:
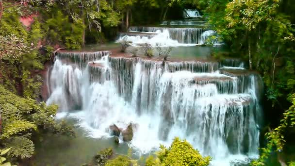
[[[70,125],[77,121],[65,118]],[[115,144],[114,138],[91,138],[87,131],[75,127],[76,137],[45,134],[35,145],[30,166],[81,166],[90,162],[98,151],[112,147],[115,153],[128,154],[128,143]],[[138,155],[133,156],[134,158]]]

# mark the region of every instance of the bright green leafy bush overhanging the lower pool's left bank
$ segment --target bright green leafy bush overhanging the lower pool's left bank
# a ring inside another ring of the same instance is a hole
[[[36,104],[29,98],[21,98],[0,85],[0,108],[3,124],[1,143],[11,147],[11,157],[29,158],[33,155],[32,134],[52,132],[74,135],[64,122],[56,123],[54,116],[57,106],[46,106],[44,102]]]

